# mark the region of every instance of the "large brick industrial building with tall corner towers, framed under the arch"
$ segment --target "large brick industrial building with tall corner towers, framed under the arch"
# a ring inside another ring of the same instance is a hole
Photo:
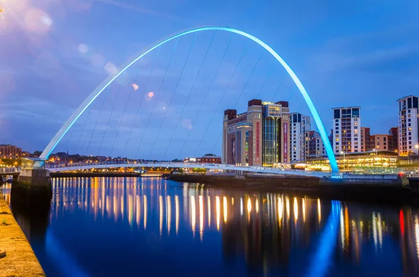
[[[222,163],[273,165],[289,163],[290,114],[288,102],[248,102],[247,112],[224,111]]]

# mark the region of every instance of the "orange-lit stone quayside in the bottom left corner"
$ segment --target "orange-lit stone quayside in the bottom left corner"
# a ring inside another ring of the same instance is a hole
[[[45,276],[29,241],[17,224],[0,188],[0,276]]]

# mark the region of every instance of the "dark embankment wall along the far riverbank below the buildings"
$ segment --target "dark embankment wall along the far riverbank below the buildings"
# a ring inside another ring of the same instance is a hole
[[[288,193],[295,196],[322,197],[323,199],[395,203],[410,201],[413,196],[409,185],[402,180],[367,182],[357,179],[330,181],[313,177],[254,177],[236,178],[223,175],[179,174],[168,177],[173,181],[205,184],[214,188],[239,188]]]

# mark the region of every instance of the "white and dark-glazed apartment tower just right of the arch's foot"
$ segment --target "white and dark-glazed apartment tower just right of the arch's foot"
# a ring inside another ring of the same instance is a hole
[[[362,151],[360,110],[360,107],[333,109],[332,148],[335,154]]]

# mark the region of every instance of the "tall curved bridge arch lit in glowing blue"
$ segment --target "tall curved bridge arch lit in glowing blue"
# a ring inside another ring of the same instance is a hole
[[[249,33],[245,33],[244,31],[231,29],[231,28],[228,28],[228,27],[202,27],[202,28],[191,29],[189,31],[184,31],[182,33],[178,33],[175,36],[170,36],[170,38],[166,38],[165,40],[162,40],[160,43],[157,43],[153,47],[149,48],[149,50],[145,51],[140,56],[135,58],[133,61],[126,63],[124,66],[122,66],[122,69],[119,70],[118,73],[109,76],[98,87],[96,87],[96,89],[94,91],[92,91],[89,96],[87,96],[87,98],[80,104],[80,106],[77,108],[77,110],[75,110],[75,112],[73,112],[73,114],[71,114],[71,117],[69,117],[67,119],[66,123],[64,123],[64,125],[61,127],[61,129],[59,129],[57,134],[54,135],[54,137],[52,138],[50,143],[47,145],[47,147],[45,147],[45,149],[42,152],[40,158],[47,159],[48,156],[50,156],[51,152],[54,150],[54,148],[57,146],[57,144],[60,142],[60,140],[64,137],[64,135],[66,135],[68,130],[71,128],[71,126],[73,126],[75,121],[77,121],[77,119],[82,115],[82,113],[87,109],[87,107],[89,107],[89,105],[91,103],[93,103],[93,101],[105,90],[105,88],[108,87],[119,75],[124,73],[124,71],[127,68],[132,66],[133,63],[135,63],[136,61],[138,61],[139,59],[141,59],[142,57],[144,57],[146,54],[148,54],[152,50],[156,49],[157,47],[169,42],[170,40],[173,40],[175,38],[179,38],[179,37],[187,35],[189,33],[196,33],[198,31],[210,31],[210,30],[212,30],[212,31],[215,31],[215,30],[228,31],[230,33],[237,33],[240,36],[244,36],[246,38],[249,38],[249,39],[253,40],[255,43],[258,43],[258,45],[265,48],[265,50],[267,50],[267,52],[270,52],[270,54],[272,54],[272,56],[274,56],[275,59],[277,59],[277,61],[279,61],[279,63],[281,63],[282,66],[284,66],[286,72],[288,73],[288,75],[291,76],[291,78],[293,79],[293,81],[297,85],[298,89],[300,89],[300,92],[301,92],[302,96],[304,97],[304,100],[306,101],[307,105],[309,106],[310,112],[311,112],[311,114],[314,118],[314,121],[316,122],[316,126],[317,126],[318,131],[321,135],[321,139],[323,140],[323,144],[325,146],[326,153],[328,154],[328,158],[329,158],[329,161],[330,161],[330,167],[332,167],[332,172],[334,172],[334,173],[339,172],[339,169],[338,169],[337,163],[336,163],[335,154],[333,153],[332,146],[330,145],[329,137],[328,137],[328,134],[326,133],[325,127],[323,126],[323,123],[322,123],[322,121],[321,121],[321,119],[318,115],[316,107],[314,107],[313,101],[311,101],[309,93],[307,93],[307,91],[304,89],[304,86],[302,85],[302,83],[298,79],[297,75],[295,75],[293,70],[291,70],[291,68],[288,66],[288,64],[286,64],[284,59],[279,57],[279,54],[277,54],[277,52],[275,52],[269,45],[264,43],[262,40],[256,38],[255,36],[250,35]]]

